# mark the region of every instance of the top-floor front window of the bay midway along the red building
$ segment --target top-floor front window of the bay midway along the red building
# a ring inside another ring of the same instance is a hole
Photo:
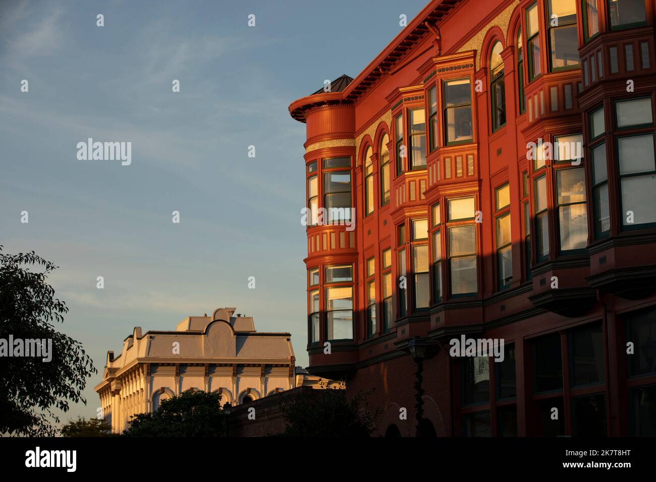
[[[472,140],[472,92],[470,79],[444,83],[444,125],[446,144]]]

